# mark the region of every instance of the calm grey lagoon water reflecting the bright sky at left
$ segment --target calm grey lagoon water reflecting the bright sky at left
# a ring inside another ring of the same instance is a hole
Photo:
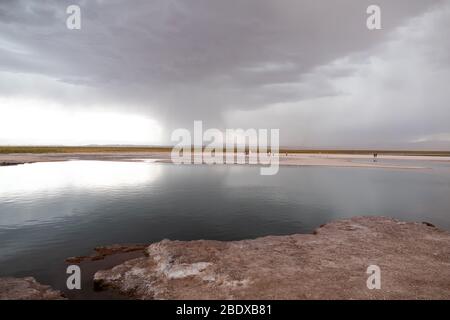
[[[450,165],[424,170],[68,161],[0,167],[0,276],[63,288],[96,246],[311,232],[355,215],[450,230]]]

